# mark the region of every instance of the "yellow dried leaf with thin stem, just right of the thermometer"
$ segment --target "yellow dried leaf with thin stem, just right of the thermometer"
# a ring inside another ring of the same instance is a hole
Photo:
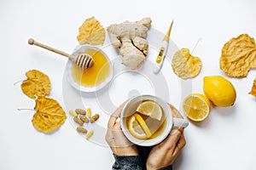
[[[188,48],[181,48],[173,56],[172,70],[183,79],[196,77],[201,71],[201,59],[192,56]]]

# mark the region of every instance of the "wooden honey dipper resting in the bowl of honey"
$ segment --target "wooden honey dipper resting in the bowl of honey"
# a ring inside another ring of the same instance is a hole
[[[71,59],[76,65],[78,65],[81,69],[88,69],[90,67],[92,67],[94,65],[94,60],[92,59],[92,57],[89,55],[89,54],[85,54],[85,53],[82,53],[82,54],[79,54],[77,57],[74,56],[74,55],[71,55],[71,54],[67,54],[67,53],[64,53],[58,49],[55,49],[55,48],[51,48],[49,46],[46,46],[42,43],[39,43],[39,42],[36,42],[34,39],[30,38],[28,40],[28,43],[30,45],[36,45],[40,48],[44,48],[44,49],[48,49],[49,51],[52,51],[56,54],[61,54],[63,56],[66,56],[68,57],[68,59]]]

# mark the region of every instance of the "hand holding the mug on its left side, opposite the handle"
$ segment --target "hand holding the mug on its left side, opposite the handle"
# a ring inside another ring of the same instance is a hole
[[[136,146],[125,138],[119,122],[119,116],[125,103],[120,105],[110,116],[108,120],[108,132],[105,139],[116,156],[137,156],[138,151]]]

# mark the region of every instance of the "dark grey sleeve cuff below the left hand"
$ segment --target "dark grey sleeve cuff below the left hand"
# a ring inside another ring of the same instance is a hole
[[[116,156],[113,154],[113,170],[142,170],[142,159],[140,156]]]

